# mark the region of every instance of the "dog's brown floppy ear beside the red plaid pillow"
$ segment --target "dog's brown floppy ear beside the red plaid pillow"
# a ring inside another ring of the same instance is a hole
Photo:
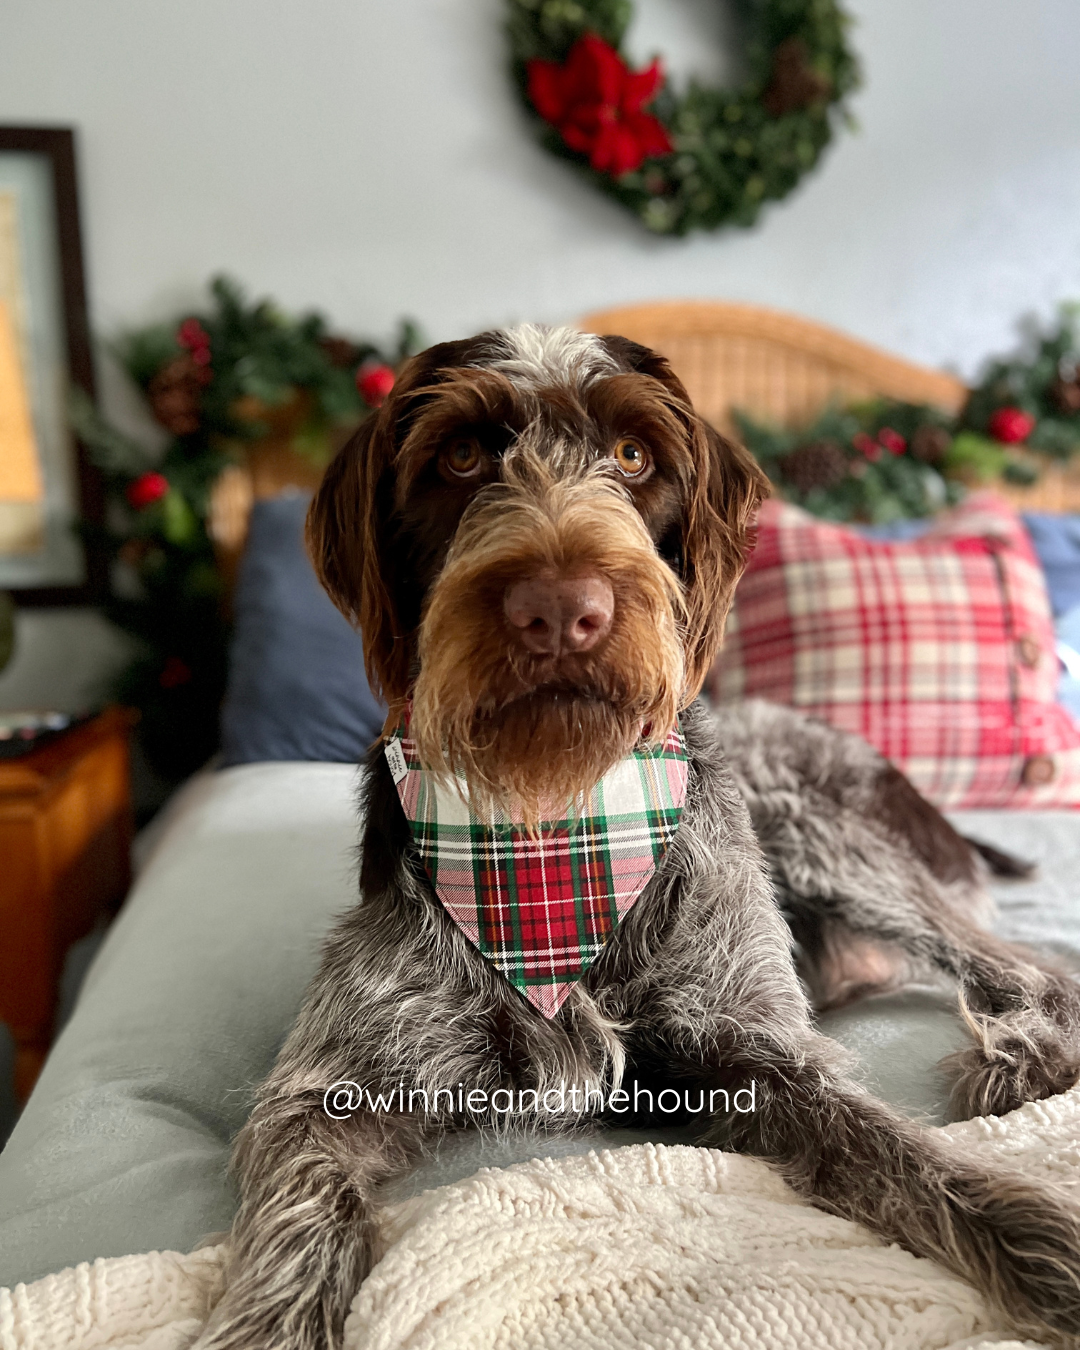
[[[724,637],[732,597],[753,548],[753,518],[771,487],[753,455],[697,418],[697,482],[683,522],[686,691],[701,693]]]

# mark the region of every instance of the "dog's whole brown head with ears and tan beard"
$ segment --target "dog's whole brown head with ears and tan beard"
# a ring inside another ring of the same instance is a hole
[[[535,818],[697,695],[765,491],[662,356],[522,325],[416,356],[308,540],[389,721]]]

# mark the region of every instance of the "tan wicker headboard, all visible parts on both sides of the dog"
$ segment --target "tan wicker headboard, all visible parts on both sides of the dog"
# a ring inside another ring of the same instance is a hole
[[[929,370],[795,315],[724,301],[649,301],[586,315],[587,332],[622,333],[671,360],[698,408],[732,432],[732,409],[798,425],[829,402],[890,397],[959,412],[968,396],[954,375]],[[211,505],[211,535],[231,580],[247,536],[252,502],[297,486],[312,490],[320,471],[290,448],[292,429],[256,443],[246,464],[225,470]],[[1080,512],[1080,456],[1049,464],[1030,487],[999,485],[1023,510]]]

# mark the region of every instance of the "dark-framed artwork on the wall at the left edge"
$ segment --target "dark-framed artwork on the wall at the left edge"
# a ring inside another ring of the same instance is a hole
[[[0,127],[0,590],[85,603],[100,560],[76,531],[101,485],[72,435],[72,385],[93,397],[74,135]]]

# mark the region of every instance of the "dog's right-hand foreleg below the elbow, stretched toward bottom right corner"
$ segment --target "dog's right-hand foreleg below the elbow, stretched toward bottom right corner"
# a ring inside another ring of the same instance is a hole
[[[965,1157],[837,1077],[830,1049],[818,1037],[795,1057],[761,1041],[732,1046],[709,1077],[734,1087],[749,1079],[753,1110],[714,1122],[709,1142],[726,1134],[771,1158],[815,1204],[975,1284],[1019,1331],[1080,1343],[1080,1208]]]

